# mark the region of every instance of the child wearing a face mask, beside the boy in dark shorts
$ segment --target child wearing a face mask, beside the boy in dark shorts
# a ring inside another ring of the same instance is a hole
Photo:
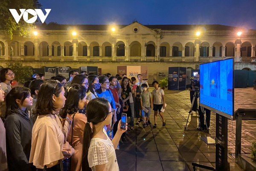
[[[153,103],[152,103],[152,95],[148,91],[148,85],[147,84],[142,84],[141,88],[143,92],[140,93],[140,104],[143,110],[143,119],[144,119],[144,124],[143,128],[148,126],[148,119],[150,115],[150,108],[153,108]],[[145,112],[145,110],[148,110],[148,112]]]

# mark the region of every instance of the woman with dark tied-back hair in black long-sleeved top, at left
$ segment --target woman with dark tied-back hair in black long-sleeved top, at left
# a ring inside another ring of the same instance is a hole
[[[33,104],[30,90],[15,87],[6,96],[6,149],[9,171],[31,171],[29,154],[33,123],[26,108]]]

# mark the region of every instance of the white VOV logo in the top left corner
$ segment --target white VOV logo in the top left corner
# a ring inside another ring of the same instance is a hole
[[[20,15],[16,11],[16,9],[9,9],[14,17],[16,23],[19,23],[20,18],[23,16],[23,20],[26,23],[34,23],[37,20],[37,17],[40,18],[41,22],[44,23],[45,19],[47,18],[48,14],[50,13],[51,9],[45,9],[46,15],[42,12],[41,9],[20,9]],[[29,14],[33,15],[34,17],[29,19]]]

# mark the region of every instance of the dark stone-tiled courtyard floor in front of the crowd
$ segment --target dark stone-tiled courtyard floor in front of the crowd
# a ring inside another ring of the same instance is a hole
[[[120,150],[116,150],[120,171],[192,171],[192,162],[215,167],[215,145],[207,145],[200,139],[201,136],[215,135],[215,113],[211,113],[209,134],[198,130],[184,131],[191,107],[189,91],[165,90],[165,97],[166,126],[162,127],[158,116],[157,128],[153,128],[153,125],[143,128],[142,123],[133,131],[128,128],[126,141],[119,144]],[[237,108],[256,108],[256,91],[253,88],[235,89],[235,110]],[[152,109],[150,120],[154,121]],[[194,114],[189,118],[187,129],[195,129],[197,126],[198,115]],[[250,156],[249,148],[256,141],[255,127],[256,121],[242,121],[242,154]],[[230,171],[239,171],[234,159],[235,131],[236,121],[229,120]]]

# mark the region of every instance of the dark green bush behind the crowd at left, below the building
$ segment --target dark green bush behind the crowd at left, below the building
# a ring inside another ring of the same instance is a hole
[[[33,75],[33,71],[30,70],[29,66],[23,65],[21,62],[11,62],[6,64],[6,68],[11,68],[13,73],[15,73],[15,80],[19,84],[24,84],[25,78],[30,78]]]

